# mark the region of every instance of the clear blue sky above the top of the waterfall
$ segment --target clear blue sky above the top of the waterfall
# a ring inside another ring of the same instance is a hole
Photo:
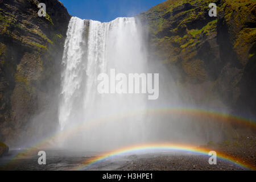
[[[134,16],[166,0],[60,0],[69,14],[81,19],[109,22],[121,16]]]

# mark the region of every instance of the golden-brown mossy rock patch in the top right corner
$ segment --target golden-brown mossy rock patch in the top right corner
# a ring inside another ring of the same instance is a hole
[[[233,49],[242,65],[246,65],[250,59],[249,49],[255,43],[256,28],[247,24],[255,22],[255,1],[227,0],[220,9],[224,14],[225,23],[230,34],[233,35]]]

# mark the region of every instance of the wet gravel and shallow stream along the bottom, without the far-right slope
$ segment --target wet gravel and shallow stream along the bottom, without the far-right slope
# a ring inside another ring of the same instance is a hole
[[[247,170],[234,163],[217,160],[216,165],[208,163],[209,156],[204,155],[176,155],[176,154],[143,154],[123,155],[104,160],[90,166],[86,162],[90,156],[48,156],[47,165],[39,165],[36,156],[26,156],[0,160],[0,170],[15,171],[68,171],[75,169],[92,171],[205,171],[205,170]]]

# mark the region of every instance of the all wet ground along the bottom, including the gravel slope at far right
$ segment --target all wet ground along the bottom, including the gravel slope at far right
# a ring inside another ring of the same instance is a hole
[[[232,142],[212,144],[212,150],[221,151],[256,168],[256,138],[245,137]],[[26,154],[26,152],[25,152]],[[216,165],[210,165],[207,155],[192,153],[159,152],[150,154],[130,154],[115,156],[86,166],[88,161],[100,155],[96,152],[73,152],[64,150],[46,150],[47,165],[39,165],[39,156],[23,155],[20,151],[10,151],[8,156],[0,158],[0,170],[15,171],[68,171],[75,169],[92,171],[243,171],[249,170],[226,160],[217,159]]]

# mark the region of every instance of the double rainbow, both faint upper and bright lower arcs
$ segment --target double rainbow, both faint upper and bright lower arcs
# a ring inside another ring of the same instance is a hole
[[[212,118],[214,121],[217,122],[229,122],[229,123],[236,123],[237,125],[243,126],[243,127],[248,127],[250,129],[256,130],[256,121],[253,119],[247,119],[244,117],[239,117],[236,115],[230,115],[226,113],[221,113],[213,110],[204,110],[204,109],[191,109],[191,108],[183,108],[183,107],[172,107],[172,108],[161,108],[161,109],[149,109],[149,110],[142,110],[142,111],[136,111],[136,112],[130,112],[130,113],[124,113],[124,114],[119,114],[119,115],[114,115],[106,118],[100,118],[100,119],[94,119],[93,121],[88,121],[85,122],[85,124],[73,127],[72,129],[62,131],[59,133],[56,133],[52,135],[51,137],[48,137],[44,140],[42,140],[39,143],[34,144],[31,148],[28,148],[28,150],[23,151],[24,155],[31,155],[34,153],[35,150],[38,148],[47,148],[51,146],[52,141],[54,142],[55,140],[59,138],[66,138],[69,136],[72,136],[76,134],[79,131],[84,131],[89,130],[93,127],[97,127],[101,125],[102,123],[106,122],[113,122],[116,121],[117,119],[126,119],[130,117],[134,117],[136,115],[141,115],[141,114],[148,114],[148,115],[162,115],[162,114],[170,114],[170,115],[187,115],[189,117],[199,117],[199,118]],[[209,150],[206,148],[198,148],[195,146],[189,146],[189,145],[182,145],[182,144],[142,144],[140,146],[133,146],[133,147],[127,147],[127,148],[122,148],[120,150],[116,150],[113,152],[108,152],[106,154],[101,155],[101,157],[93,158],[90,160],[89,164],[93,164],[96,162],[100,162],[102,160],[105,160],[109,156],[116,156],[116,155],[121,155],[121,154],[128,154],[129,152],[133,151],[146,151],[146,150],[175,150],[175,151],[189,151],[189,152],[194,152],[196,154],[204,154],[208,155]],[[242,160],[238,158],[233,158],[229,155],[222,154],[219,152],[218,158],[220,159],[225,159],[233,163],[237,163],[238,165],[241,165],[246,168],[254,169],[251,164],[244,164]],[[16,159],[13,158],[12,161]],[[87,163],[86,163],[87,164]]]

